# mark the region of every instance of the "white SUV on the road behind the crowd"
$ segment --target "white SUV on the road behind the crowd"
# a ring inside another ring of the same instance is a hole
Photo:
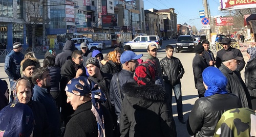
[[[134,49],[147,49],[147,46],[150,43],[154,43],[157,45],[157,48],[160,48],[159,37],[157,35],[149,35],[149,36],[137,36],[132,41],[129,41],[124,44],[125,46],[130,46],[132,50]]]

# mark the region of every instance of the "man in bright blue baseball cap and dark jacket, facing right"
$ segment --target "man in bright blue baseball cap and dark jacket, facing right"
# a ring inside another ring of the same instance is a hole
[[[119,123],[121,110],[122,110],[122,100],[123,100],[123,90],[122,86],[125,83],[133,81],[133,74],[135,68],[138,66],[138,59],[140,59],[143,54],[136,54],[133,51],[124,51],[121,54],[120,61],[122,63],[121,72],[117,72],[113,75],[110,85],[110,97],[111,103],[115,106],[115,113],[117,115],[117,123]]]

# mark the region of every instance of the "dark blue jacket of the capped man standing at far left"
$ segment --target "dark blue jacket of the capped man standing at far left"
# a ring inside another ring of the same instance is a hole
[[[17,80],[22,77],[20,75],[20,62],[24,60],[24,54],[15,52],[13,49],[5,58],[5,72],[9,76],[10,81]]]

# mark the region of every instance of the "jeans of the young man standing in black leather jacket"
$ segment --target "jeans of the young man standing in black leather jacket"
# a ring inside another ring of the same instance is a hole
[[[165,84],[165,91],[167,95],[167,101],[169,106],[172,108],[172,98],[173,98],[173,90],[175,95],[175,100],[177,104],[177,112],[178,119],[183,119],[183,108],[182,108],[182,95],[181,95],[181,83],[177,83],[176,85],[170,85],[168,83]]]

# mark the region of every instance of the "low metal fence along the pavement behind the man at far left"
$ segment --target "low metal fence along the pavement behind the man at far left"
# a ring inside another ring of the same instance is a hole
[[[12,49],[1,49],[0,50],[0,57],[6,57],[8,53],[11,52]],[[37,47],[28,47],[28,48],[23,48],[22,52],[26,54],[27,52],[33,51],[35,53],[42,52],[42,47],[37,46]]]

